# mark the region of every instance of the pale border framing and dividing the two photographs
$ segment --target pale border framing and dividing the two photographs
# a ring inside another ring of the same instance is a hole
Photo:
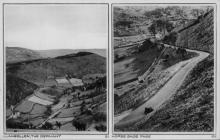
[[[108,103],[109,103],[109,135],[103,135],[103,136],[98,136],[98,135],[61,135],[59,136],[58,138],[55,138],[55,137],[47,137],[46,139],[116,139],[116,138],[119,138],[119,139],[123,139],[123,138],[127,138],[129,137],[129,135],[125,135],[125,134],[122,134],[122,135],[113,135],[113,126],[112,126],[112,123],[113,123],[113,118],[112,118],[112,103],[113,103],[113,99],[112,99],[112,95],[113,95],[113,89],[112,89],[112,74],[113,74],[113,71],[112,71],[112,68],[113,68],[113,65],[112,65],[112,40],[111,40],[111,37],[112,37],[112,32],[111,32],[111,27],[112,27],[112,24],[111,24],[111,17],[112,17],[112,13],[111,13],[111,4],[112,3],[216,3],[217,5],[217,9],[216,9],[216,13],[218,16],[215,16],[215,20],[216,20],[216,24],[215,24],[215,27],[214,27],[214,31],[216,32],[215,33],[215,46],[219,46],[219,36],[220,36],[220,22],[219,22],[219,9],[220,9],[220,1],[219,0],[1,0],[0,1],[0,22],[1,22],[1,26],[0,26],[0,29],[1,29],[1,34],[0,34],[0,43],[3,45],[3,42],[2,42],[2,31],[3,31],[3,26],[2,26],[2,3],[108,3],[109,4],[109,51],[108,51],[108,56],[110,59],[108,59],[108,62],[109,62],[109,65],[108,65],[108,72],[109,72],[109,93],[108,93],[108,97],[109,99],[107,100]],[[140,4],[142,5],[142,4]],[[217,35],[217,36],[216,36]],[[218,39],[217,39],[218,37]],[[2,49],[2,46],[1,45],[1,48],[0,48],[0,54],[2,54],[3,52],[3,49]],[[215,54],[216,54],[216,58],[215,59],[215,64],[216,64],[216,60],[218,60],[217,62],[217,65],[215,65],[215,68],[217,68],[217,70],[215,70],[215,73],[214,73],[214,76],[216,76],[216,74],[220,73],[220,49],[217,47],[215,48]],[[0,66],[0,91],[1,91],[1,94],[0,94],[0,114],[2,114],[2,110],[3,110],[3,84],[4,84],[4,81],[3,81],[3,56],[0,55],[0,60],[1,60],[1,66]],[[217,86],[217,83],[219,83],[219,75],[218,77],[215,78],[215,85]],[[215,93],[218,93],[219,92],[219,87],[217,86],[217,89],[215,89]],[[215,107],[215,113],[217,115],[217,118],[220,118],[220,109],[219,109],[219,106],[220,106],[220,96],[218,94],[215,94],[215,102],[217,102],[217,106]],[[217,119],[215,118],[215,125],[216,125],[216,135],[187,135],[187,134],[182,134],[182,135],[169,135],[169,134],[166,134],[166,135],[156,135],[156,133],[154,135],[141,135],[141,134],[138,134],[138,133],[135,133],[134,135],[130,135],[130,136],[134,136],[134,137],[138,137],[139,139],[219,139],[220,140],[220,119]],[[3,124],[3,117],[0,117],[0,122],[1,124]],[[25,135],[24,135],[25,136]],[[29,136],[29,135],[27,135]],[[38,135],[40,136],[40,135]],[[26,137],[26,138],[17,138],[17,139],[45,139],[43,137],[37,137],[37,138],[34,138],[34,137]],[[0,139],[15,139],[15,137],[4,137],[3,135],[3,125],[0,125]],[[136,138],[131,138],[130,139],[136,139]]]

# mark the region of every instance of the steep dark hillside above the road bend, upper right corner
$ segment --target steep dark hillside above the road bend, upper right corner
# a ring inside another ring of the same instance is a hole
[[[214,52],[214,10],[200,16],[195,22],[179,31],[177,46]]]

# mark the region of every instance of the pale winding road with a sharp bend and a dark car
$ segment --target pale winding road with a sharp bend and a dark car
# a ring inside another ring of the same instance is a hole
[[[188,63],[182,67],[159,91],[155,94],[150,100],[148,100],[143,105],[139,106],[137,109],[131,111],[129,114],[124,116],[120,121],[117,121],[115,127],[123,127],[132,123],[141,121],[146,117],[144,114],[145,107],[152,107],[153,112],[147,115],[149,118],[159,107],[167,101],[184,82],[186,76],[189,72],[198,64],[200,61],[209,56],[208,53],[196,50],[186,49],[188,52],[195,52],[198,56],[193,57],[192,59],[187,60]],[[146,119],[146,118],[145,118]]]

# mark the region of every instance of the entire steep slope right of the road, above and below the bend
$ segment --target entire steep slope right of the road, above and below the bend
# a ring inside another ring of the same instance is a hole
[[[176,44],[210,56],[199,62],[178,91],[141,124],[126,131],[211,132],[214,130],[214,11],[179,30]]]

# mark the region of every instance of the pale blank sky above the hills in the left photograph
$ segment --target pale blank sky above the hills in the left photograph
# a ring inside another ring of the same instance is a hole
[[[108,7],[97,4],[5,5],[7,47],[106,49]]]

